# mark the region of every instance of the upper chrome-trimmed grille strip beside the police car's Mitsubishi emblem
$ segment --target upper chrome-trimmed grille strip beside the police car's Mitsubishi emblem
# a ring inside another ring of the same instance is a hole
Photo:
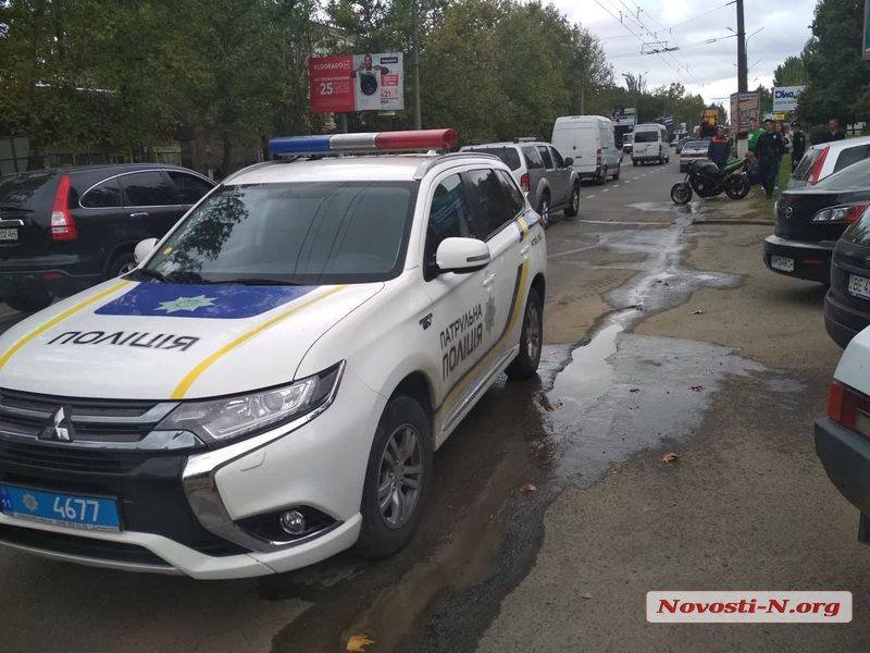
[[[0,390],[0,434],[39,438],[59,408],[77,441],[135,443],[153,430],[173,403],[79,399]]]

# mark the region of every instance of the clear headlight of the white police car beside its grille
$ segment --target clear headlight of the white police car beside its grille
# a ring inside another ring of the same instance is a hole
[[[338,389],[343,369],[341,362],[289,385],[216,399],[184,402],[156,429],[189,431],[209,444],[253,435],[327,406]]]

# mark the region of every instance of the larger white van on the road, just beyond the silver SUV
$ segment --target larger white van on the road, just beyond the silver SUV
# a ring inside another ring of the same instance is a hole
[[[606,184],[619,178],[622,152],[613,138],[613,123],[602,115],[566,115],[556,119],[550,140],[563,157],[574,160],[580,178]]]

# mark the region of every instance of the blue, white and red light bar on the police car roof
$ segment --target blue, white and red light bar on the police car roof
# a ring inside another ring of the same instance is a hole
[[[453,130],[415,130],[411,132],[371,132],[332,136],[282,136],[269,141],[273,157],[294,155],[340,155],[384,151],[451,149]]]

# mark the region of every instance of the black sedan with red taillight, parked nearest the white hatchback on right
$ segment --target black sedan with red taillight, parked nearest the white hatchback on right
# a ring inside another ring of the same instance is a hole
[[[786,190],[774,209],[765,263],[774,272],[829,283],[831,252],[846,227],[870,206],[870,159],[810,188]]]

